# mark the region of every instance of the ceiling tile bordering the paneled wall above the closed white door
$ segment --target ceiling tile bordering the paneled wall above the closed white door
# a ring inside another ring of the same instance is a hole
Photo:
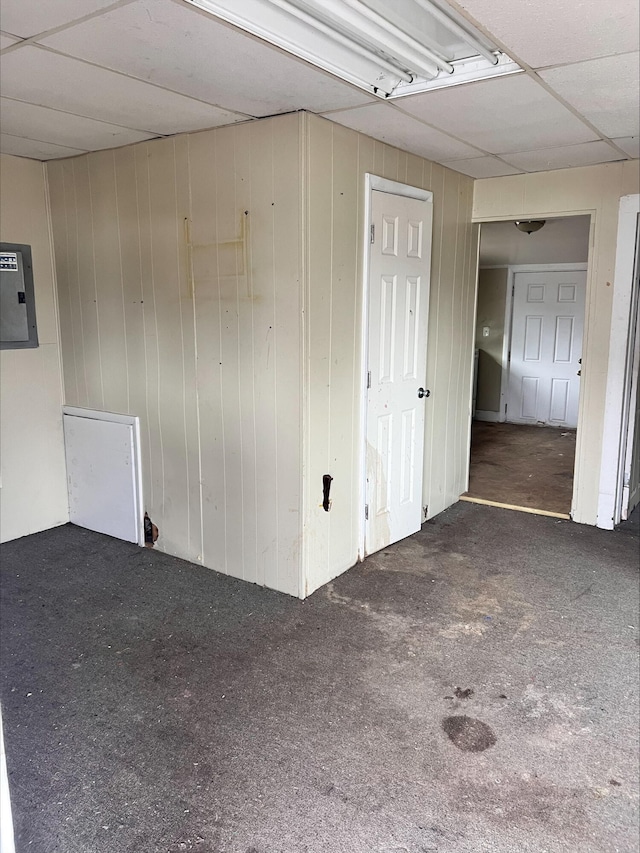
[[[391,104],[376,103],[353,110],[328,113],[326,118],[437,162],[442,159],[463,159],[478,155],[475,148],[427,127],[394,109]]]

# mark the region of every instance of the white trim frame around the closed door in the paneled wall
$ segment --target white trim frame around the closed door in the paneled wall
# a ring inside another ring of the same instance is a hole
[[[430,190],[424,190],[421,187],[414,187],[410,184],[403,184],[399,181],[392,181],[388,178],[383,178],[380,175],[375,175],[372,172],[366,172],[364,176],[364,228],[362,233],[362,296],[360,305],[360,476],[359,476],[359,522],[358,522],[358,560],[364,560],[365,557],[365,505],[367,498],[367,353],[369,351],[369,252],[371,248],[371,209],[372,209],[372,193],[373,192],[389,193],[391,195],[403,196],[405,198],[415,198],[418,201],[425,201],[433,204],[433,193]],[[429,255],[429,270],[431,270],[432,250]],[[429,290],[426,297],[429,299]],[[423,436],[424,441],[424,436]]]

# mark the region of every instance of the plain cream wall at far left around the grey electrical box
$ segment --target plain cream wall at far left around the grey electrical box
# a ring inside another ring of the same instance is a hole
[[[60,344],[45,172],[0,158],[0,240],[31,245],[39,346],[0,351],[1,541],[69,520]]]

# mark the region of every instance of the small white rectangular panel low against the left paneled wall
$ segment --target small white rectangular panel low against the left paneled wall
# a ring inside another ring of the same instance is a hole
[[[63,416],[69,520],[142,545],[137,419],[85,411],[69,407]]]

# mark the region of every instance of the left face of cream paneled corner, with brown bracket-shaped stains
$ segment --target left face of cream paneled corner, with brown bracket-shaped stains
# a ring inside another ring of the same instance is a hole
[[[65,402],[139,415],[168,553],[298,595],[298,116],[48,164]]]

